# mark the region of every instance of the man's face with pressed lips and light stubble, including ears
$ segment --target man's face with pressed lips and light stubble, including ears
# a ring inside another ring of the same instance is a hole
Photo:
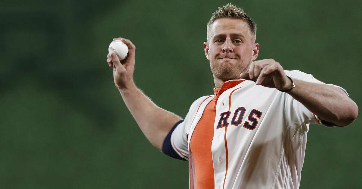
[[[210,38],[204,43],[214,78],[222,81],[239,79],[259,52],[247,22],[239,19],[217,19],[210,28]]]

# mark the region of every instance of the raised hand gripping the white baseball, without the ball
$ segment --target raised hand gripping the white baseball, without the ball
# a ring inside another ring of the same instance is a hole
[[[129,49],[127,57],[122,61],[119,61],[119,58],[115,53],[107,54],[108,65],[109,67],[113,67],[114,85],[118,90],[129,89],[134,86],[133,71],[135,66],[136,47],[130,40],[125,38],[119,37],[114,38],[113,41],[114,40],[121,40]]]

